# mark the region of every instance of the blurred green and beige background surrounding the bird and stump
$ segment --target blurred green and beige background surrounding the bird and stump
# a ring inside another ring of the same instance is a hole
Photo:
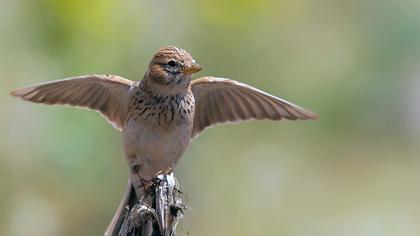
[[[127,180],[97,113],[8,92],[69,76],[139,80],[161,46],[310,122],[218,126],[176,174],[188,235],[420,235],[417,0],[2,0],[0,235],[101,235]]]

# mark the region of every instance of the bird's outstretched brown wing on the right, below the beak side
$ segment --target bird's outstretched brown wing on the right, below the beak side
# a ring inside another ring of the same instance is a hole
[[[308,110],[235,80],[203,77],[192,81],[191,89],[195,99],[191,137],[217,123],[317,118]]]

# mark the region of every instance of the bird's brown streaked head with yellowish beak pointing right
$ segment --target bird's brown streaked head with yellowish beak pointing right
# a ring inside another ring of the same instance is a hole
[[[203,68],[185,50],[163,47],[153,56],[145,78],[164,90],[188,87],[191,76]]]

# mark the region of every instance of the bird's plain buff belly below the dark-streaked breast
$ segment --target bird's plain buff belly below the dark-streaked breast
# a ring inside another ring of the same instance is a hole
[[[129,121],[122,135],[132,181],[136,184],[140,180],[153,179],[159,172],[175,168],[190,142],[191,126],[180,124],[163,128]]]

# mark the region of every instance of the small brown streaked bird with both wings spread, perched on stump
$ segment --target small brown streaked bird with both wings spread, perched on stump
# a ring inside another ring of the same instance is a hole
[[[17,89],[10,94],[44,104],[100,112],[121,131],[129,186],[145,188],[168,174],[190,142],[207,128],[247,120],[311,120],[318,116],[284,99],[201,71],[186,50],[166,46],[152,57],[140,81],[117,75],[84,75]]]

